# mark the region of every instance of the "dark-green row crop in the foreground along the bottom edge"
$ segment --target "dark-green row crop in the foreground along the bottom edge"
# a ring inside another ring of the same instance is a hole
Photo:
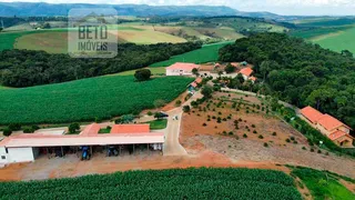
[[[128,171],[0,183],[3,199],[287,199],[301,200],[293,179],[258,169]]]

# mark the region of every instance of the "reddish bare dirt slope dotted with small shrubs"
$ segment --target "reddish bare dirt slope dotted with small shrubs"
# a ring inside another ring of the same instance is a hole
[[[234,162],[306,166],[355,177],[354,159],[324,150],[318,152],[317,148],[310,147],[298,131],[271,113],[266,114],[266,107],[256,97],[227,96],[216,93],[212,102],[204,102],[191,113],[184,113],[180,141],[189,153],[199,154],[201,150],[210,150]],[[241,97],[245,104],[234,108],[231,100]],[[221,118],[221,122],[217,118]],[[235,120],[239,121],[237,126]],[[311,149],[314,151],[311,152]]]

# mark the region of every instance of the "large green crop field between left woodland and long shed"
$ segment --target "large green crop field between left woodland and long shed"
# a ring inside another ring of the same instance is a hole
[[[59,123],[110,119],[174,100],[192,78],[164,77],[135,82],[105,76],[22,89],[0,88],[0,123]]]

